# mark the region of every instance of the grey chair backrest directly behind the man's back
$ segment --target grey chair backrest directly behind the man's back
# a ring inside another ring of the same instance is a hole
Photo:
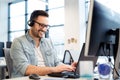
[[[13,62],[10,57],[10,48],[4,48],[3,50],[4,50],[5,60],[6,60],[7,68],[8,68],[8,75],[9,75],[9,78],[11,78]]]

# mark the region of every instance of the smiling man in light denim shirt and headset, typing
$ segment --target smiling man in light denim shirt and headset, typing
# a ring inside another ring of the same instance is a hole
[[[28,23],[29,31],[14,39],[10,51],[13,61],[12,77],[75,70],[76,63],[65,65],[60,62],[52,42],[44,38],[49,27],[48,17],[43,10],[33,11]]]

